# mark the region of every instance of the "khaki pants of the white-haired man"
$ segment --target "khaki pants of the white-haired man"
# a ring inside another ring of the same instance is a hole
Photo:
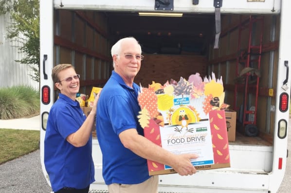
[[[158,193],[159,176],[152,176],[140,184],[110,184],[109,193]]]

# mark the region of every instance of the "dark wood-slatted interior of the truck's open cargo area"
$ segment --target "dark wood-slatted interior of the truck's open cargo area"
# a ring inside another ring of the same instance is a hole
[[[92,86],[102,87],[109,78],[111,45],[122,37],[133,36],[145,55],[136,83],[147,87],[152,81],[164,84],[170,79],[187,79],[195,73],[204,78],[214,72],[224,83],[224,103],[237,113],[236,140],[230,144],[272,146],[278,19],[278,15],[223,14],[219,48],[215,49],[214,14],[172,17],[141,16],[138,12],[55,10],[55,64],[73,63],[83,75],[80,92],[90,95]],[[249,48],[249,41],[254,48]],[[261,53],[254,45],[261,45]],[[253,53],[248,53],[248,49]],[[246,66],[248,55],[251,56]],[[258,55],[260,66],[255,59]],[[248,76],[241,75],[246,67],[253,71]],[[253,113],[260,115],[255,117],[258,135],[249,137],[243,119],[246,123],[254,122],[254,114],[243,116],[243,109],[254,106]]]

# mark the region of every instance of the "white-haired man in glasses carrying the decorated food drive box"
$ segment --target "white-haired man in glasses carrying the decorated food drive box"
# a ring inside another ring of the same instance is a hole
[[[196,173],[190,161],[196,154],[174,155],[144,137],[137,118],[140,88],[133,82],[144,59],[141,53],[133,37],[113,45],[114,70],[97,106],[96,131],[109,193],[157,193],[158,176],[148,175],[146,159],[172,166],[182,176]]]

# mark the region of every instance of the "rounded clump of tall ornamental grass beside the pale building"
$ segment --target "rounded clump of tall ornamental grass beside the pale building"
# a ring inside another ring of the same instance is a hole
[[[30,86],[0,88],[0,119],[35,115],[39,105],[39,92]]]

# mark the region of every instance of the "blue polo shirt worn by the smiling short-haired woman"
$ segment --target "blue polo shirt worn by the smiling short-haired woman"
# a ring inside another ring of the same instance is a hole
[[[66,140],[85,119],[77,101],[59,94],[49,113],[44,140],[44,164],[54,192],[63,187],[84,189],[95,181],[91,137],[82,147]]]

